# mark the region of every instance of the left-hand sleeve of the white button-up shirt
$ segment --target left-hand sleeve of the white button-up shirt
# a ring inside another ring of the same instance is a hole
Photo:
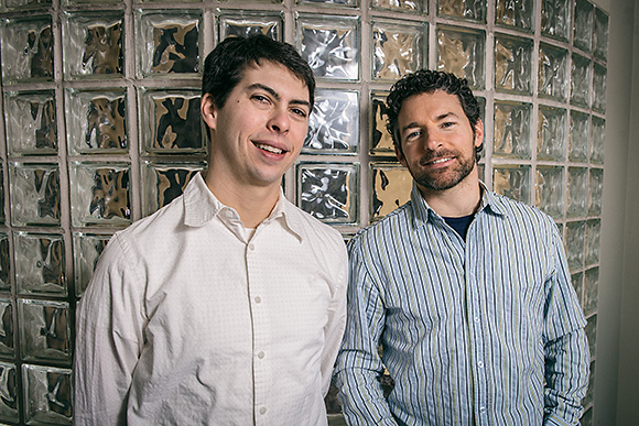
[[[126,425],[127,398],[143,342],[143,305],[118,236],[111,238],[77,313],[76,425]]]

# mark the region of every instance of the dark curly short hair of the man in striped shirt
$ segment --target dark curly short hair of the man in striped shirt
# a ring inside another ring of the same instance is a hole
[[[402,145],[398,129],[398,117],[403,101],[413,95],[432,94],[435,90],[444,90],[450,95],[457,96],[459,103],[462,103],[462,109],[464,109],[464,113],[470,122],[473,134],[475,134],[475,125],[479,121],[479,103],[475,95],[473,95],[473,90],[468,87],[468,80],[458,78],[452,73],[420,69],[396,81],[387,97],[387,129],[400,152],[402,152]],[[484,142],[475,149],[477,160],[480,157],[481,150],[484,150]]]

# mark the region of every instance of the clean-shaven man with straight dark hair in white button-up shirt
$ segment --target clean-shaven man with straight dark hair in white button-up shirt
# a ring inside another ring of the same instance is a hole
[[[208,170],[102,253],[77,316],[76,425],[326,425],[346,249],[280,188],[314,89],[285,43],[208,55]]]

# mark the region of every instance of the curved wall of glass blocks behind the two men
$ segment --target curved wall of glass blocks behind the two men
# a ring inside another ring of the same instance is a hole
[[[96,260],[205,167],[203,58],[254,32],[315,72],[283,185],[346,239],[409,198],[385,130],[391,84],[420,67],[467,78],[483,179],[563,232],[594,371],[608,14],[591,1],[0,0],[0,423],[72,424],[75,307]]]

